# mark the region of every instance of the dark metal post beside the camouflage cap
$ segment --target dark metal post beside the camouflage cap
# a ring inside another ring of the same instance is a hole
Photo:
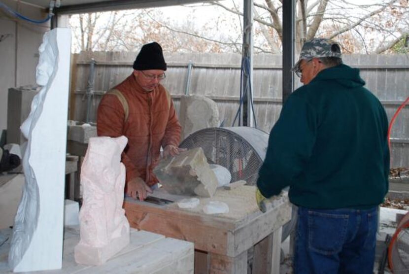
[[[283,3],[283,70],[282,70],[282,102],[283,104],[294,91],[294,43],[295,43],[295,0],[285,0]]]

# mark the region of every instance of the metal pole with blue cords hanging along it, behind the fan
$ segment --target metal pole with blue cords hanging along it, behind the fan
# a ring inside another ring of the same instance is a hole
[[[242,66],[245,66],[241,90],[243,91],[243,111],[240,116],[243,126],[253,126],[253,0],[243,0],[243,48]]]

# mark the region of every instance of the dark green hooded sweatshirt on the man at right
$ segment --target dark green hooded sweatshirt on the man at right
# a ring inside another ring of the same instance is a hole
[[[257,186],[265,197],[290,186],[290,201],[316,209],[364,209],[388,191],[388,120],[359,69],[320,71],[284,104]]]

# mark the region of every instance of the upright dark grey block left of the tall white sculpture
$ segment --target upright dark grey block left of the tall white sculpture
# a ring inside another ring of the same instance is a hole
[[[36,86],[8,89],[7,101],[7,143],[22,144],[27,139],[21,134],[20,126],[30,114],[31,102],[40,91]]]

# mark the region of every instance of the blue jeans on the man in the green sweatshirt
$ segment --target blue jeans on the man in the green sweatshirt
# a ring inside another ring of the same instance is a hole
[[[377,207],[299,207],[294,273],[374,273],[377,218]]]

